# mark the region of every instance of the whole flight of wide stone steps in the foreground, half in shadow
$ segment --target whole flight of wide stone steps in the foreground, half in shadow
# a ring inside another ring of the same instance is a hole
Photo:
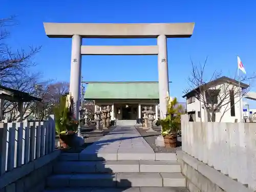
[[[174,192],[188,191],[175,153],[132,154],[129,160],[61,154],[45,192]]]

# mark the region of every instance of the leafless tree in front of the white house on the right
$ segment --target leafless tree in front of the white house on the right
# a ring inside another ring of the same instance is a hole
[[[255,79],[255,75],[251,77],[240,76],[242,89],[239,89],[238,81],[234,80],[237,75],[229,78],[222,76],[222,73],[216,70],[207,79],[205,75],[206,63],[207,59],[199,65],[191,61],[191,75],[188,77],[189,89],[185,91],[185,94],[195,95],[196,99],[200,101],[200,105],[206,110],[208,121],[216,121],[216,113],[221,110],[221,122],[224,114],[231,108],[234,110],[234,105],[248,93],[251,84],[245,82]]]

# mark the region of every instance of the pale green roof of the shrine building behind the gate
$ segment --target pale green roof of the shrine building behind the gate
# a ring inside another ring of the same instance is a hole
[[[159,99],[158,82],[89,82],[84,99]]]

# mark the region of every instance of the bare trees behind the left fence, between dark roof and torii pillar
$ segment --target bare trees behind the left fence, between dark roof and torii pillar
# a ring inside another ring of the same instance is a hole
[[[40,73],[23,74],[10,78],[9,87],[18,91],[29,93],[31,96],[42,99],[41,102],[29,101],[24,103],[24,119],[34,114],[38,119],[44,119],[51,114],[53,106],[59,102],[59,98],[69,92],[68,82],[41,81]],[[10,113],[15,120],[17,114],[17,102],[5,101],[4,113]]]

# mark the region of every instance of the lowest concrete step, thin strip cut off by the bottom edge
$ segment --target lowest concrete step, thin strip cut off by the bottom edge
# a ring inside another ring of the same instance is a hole
[[[189,192],[186,187],[128,187],[128,188],[50,188],[44,192]]]

